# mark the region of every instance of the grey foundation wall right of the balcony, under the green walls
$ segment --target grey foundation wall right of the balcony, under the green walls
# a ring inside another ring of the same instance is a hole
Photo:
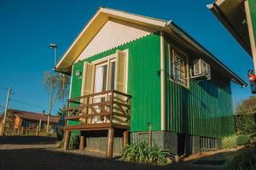
[[[130,133],[131,143],[148,142],[148,132]],[[191,155],[205,150],[221,148],[221,139],[193,136],[164,131],[152,132],[152,144],[161,150],[169,150],[173,155]]]

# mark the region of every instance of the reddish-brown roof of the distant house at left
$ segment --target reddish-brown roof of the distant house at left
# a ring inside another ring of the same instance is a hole
[[[32,121],[40,121],[47,122],[48,115],[44,115],[43,113],[35,113],[30,111],[18,111],[14,110],[13,113],[15,116],[19,116],[22,119],[32,120]],[[50,116],[49,122],[59,122],[60,116]]]

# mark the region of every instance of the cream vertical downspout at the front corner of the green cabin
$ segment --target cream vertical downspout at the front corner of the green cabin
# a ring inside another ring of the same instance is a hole
[[[160,32],[161,130],[166,130],[166,80],[164,33]]]

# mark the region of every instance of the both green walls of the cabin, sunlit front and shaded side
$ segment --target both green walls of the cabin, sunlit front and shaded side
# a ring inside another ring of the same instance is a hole
[[[167,42],[165,42],[165,49]],[[128,94],[131,99],[131,132],[160,130],[160,36],[152,34],[118,48],[96,54],[86,61],[102,59],[116,49],[129,49]],[[189,89],[168,79],[166,54],[166,131],[220,138],[234,133],[230,80],[212,70],[212,80],[189,81]],[[189,54],[189,64],[192,58]],[[84,61],[73,65],[83,71]],[[219,81],[222,80],[222,81]],[[82,79],[73,76],[71,97],[80,96]],[[69,122],[74,124],[78,122]]]

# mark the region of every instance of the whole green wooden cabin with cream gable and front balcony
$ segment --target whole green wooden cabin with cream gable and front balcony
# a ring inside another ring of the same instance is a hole
[[[175,155],[218,148],[235,132],[230,82],[247,85],[172,20],[111,8],[97,10],[55,70],[71,75],[65,149],[79,132],[80,149],[108,157],[142,141]]]

